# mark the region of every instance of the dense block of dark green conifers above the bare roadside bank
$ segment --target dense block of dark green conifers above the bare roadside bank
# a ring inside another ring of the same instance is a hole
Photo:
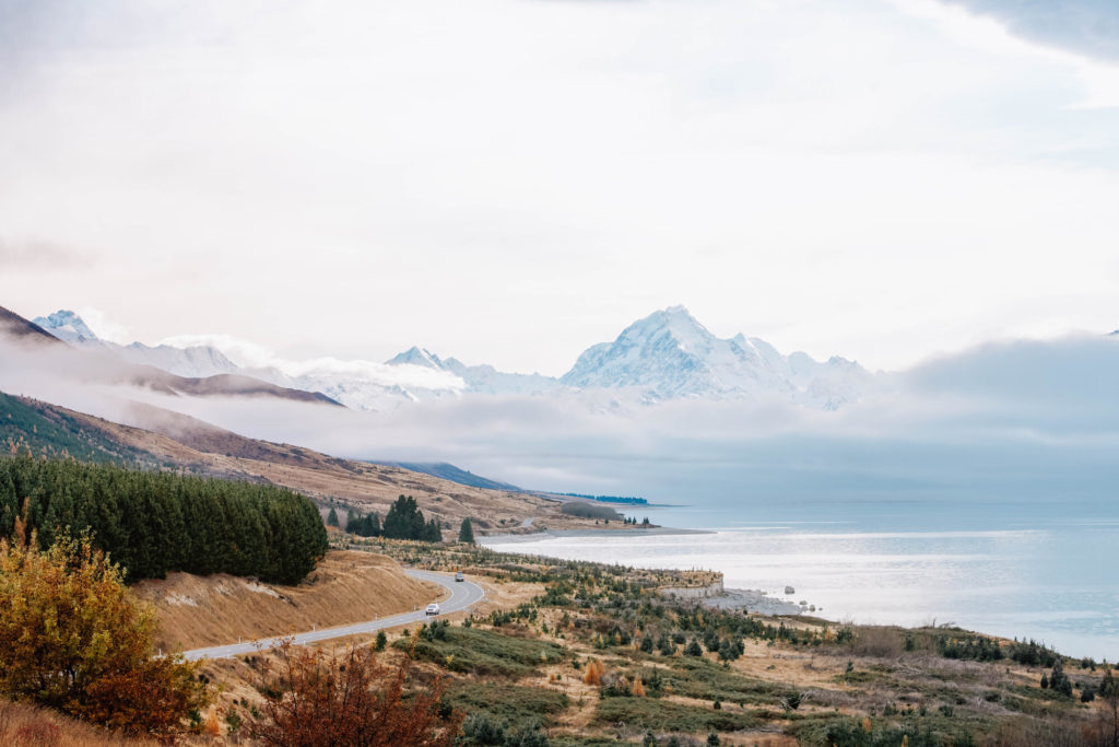
[[[25,501],[41,549],[88,530],[130,581],[187,571],[297,583],[327,551],[316,505],[271,485],[0,459],[0,535],[11,535]]]

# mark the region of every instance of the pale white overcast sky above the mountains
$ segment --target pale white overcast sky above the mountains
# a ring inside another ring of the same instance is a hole
[[[886,368],[1107,332],[1119,11],[1028,4],[0,0],[0,305],[547,374],[674,304]]]

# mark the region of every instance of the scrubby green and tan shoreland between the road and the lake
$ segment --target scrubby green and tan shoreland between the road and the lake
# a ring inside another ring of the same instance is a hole
[[[395,642],[454,678],[449,702],[470,713],[462,744],[1119,744],[1110,666],[1036,642],[765,618],[658,591],[709,582],[702,573],[466,545],[369,547],[492,582],[544,585],[527,604]]]

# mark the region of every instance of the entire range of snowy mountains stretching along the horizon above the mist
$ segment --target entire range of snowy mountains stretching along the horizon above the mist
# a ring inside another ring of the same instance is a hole
[[[38,317],[35,325],[72,345],[178,376],[250,376],[373,411],[476,394],[549,395],[595,402],[601,399],[595,399],[595,392],[609,392],[613,401],[634,405],[675,399],[781,400],[836,410],[883,386],[881,375],[854,361],[833,357],[819,362],[805,353],[782,355],[769,343],[741,334],[718,338],[683,306],[656,311],[634,321],[613,342],[591,346],[558,379],[507,373],[489,365],[468,366],[421,347],[412,347],[384,364],[290,374],[275,367],[238,366],[213,346],[116,345],[98,338],[73,311]],[[394,368],[401,375],[389,375]],[[419,375],[424,372],[426,376]]]

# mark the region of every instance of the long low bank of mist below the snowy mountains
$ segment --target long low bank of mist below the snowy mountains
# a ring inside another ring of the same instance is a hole
[[[1119,484],[1117,338],[987,345],[899,374],[892,392],[839,412],[703,401],[617,410],[606,393],[594,408],[564,395],[471,395],[373,414],[107,385],[97,383],[105,371],[76,365],[85,360],[6,351],[0,389],[113,420],[140,400],[337,456],[446,460],[526,488],[670,503],[1069,502],[1113,512]]]

